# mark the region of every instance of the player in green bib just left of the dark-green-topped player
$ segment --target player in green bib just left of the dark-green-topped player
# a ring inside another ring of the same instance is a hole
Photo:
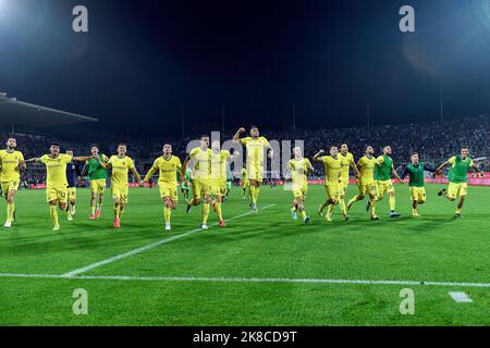
[[[377,189],[377,200],[383,199],[384,194],[390,195],[390,217],[400,217],[402,214],[395,211],[396,196],[393,183],[391,181],[391,175],[403,184],[399,173],[396,173],[393,164],[393,159],[391,146],[385,146],[383,148],[383,154],[376,159],[375,166],[375,181]],[[366,210],[369,210],[369,200],[366,202]]]

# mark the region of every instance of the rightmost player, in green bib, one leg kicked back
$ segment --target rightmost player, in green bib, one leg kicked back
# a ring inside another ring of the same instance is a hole
[[[438,196],[444,196],[450,201],[455,201],[460,197],[460,202],[457,203],[456,212],[454,217],[461,217],[461,211],[463,204],[465,203],[465,198],[468,192],[468,172],[473,167],[480,176],[483,174],[478,169],[478,166],[473,162],[469,157],[469,148],[467,146],[462,147],[461,154],[452,157],[437,169],[438,173],[442,173],[442,169],[451,165],[448,174],[449,187],[441,189]]]

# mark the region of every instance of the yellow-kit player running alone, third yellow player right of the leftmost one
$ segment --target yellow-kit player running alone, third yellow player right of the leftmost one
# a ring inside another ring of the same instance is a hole
[[[181,183],[185,183],[185,178],[181,173],[181,160],[172,154],[172,146],[170,144],[163,145],[162,152],[163,154],[155,160],[144,182],[148,183],[151,176],[159,171],[158,188],[160,189],[160,197],[164,204],[163,217],[166,220],[166,231],[170,231],[172,229],[170,225],[172,209],[176,209],[179,201],[176,173],[181,176]]]

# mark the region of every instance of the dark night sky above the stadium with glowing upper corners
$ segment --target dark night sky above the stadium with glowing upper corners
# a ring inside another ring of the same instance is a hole
[[[71,29],[85,4],[89,33]],[[399,30],[412,4],[416,33]],[[483,4],[483,5],[482,5]],[[486,5],[486,7],[485,7]],[[0,90],[113,132],[338,127],[489,113],[487,0],[0,0]],[[487,9],[487,11],[486,11]]]

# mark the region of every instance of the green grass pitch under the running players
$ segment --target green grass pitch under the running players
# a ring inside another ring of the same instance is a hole
[[[378,204],[380,221],[369,221],[359,202],[351,221],[336,208],[328,223],[316,216],[323,188],[310,186],[309,225],[291,219],[291,191],[264,187],[259,208],[268,208],[253,214],[235,188],[223,208],[228,227],[192,233],[200,208],[186,215],[182,198],[168,233],[158,189],[131,189],[115,231],[110,191],[101,219],[90,222],[89,192],[78,189],[75,221],[61,214],[59,234],[51,232],[45,192],[20,191],[17,224],[0,227],[0,325],[490,325],[490,188],[469,188],[461,220],[452,219],[455,206],[437,197],[438,188],[427,187],[417,220],[408,188],[399,185],[401,219],[388,217],[387,197]],[[348,196],[355,191],[351,186]],[[77,277],[60,277],[184,233]],[[73,313],[77,288],[88,293],[87,315]],[[414,290],[414,315],[400,313],[403,288]],[[456,302],[449,291],[464,291],[473,302]]]

